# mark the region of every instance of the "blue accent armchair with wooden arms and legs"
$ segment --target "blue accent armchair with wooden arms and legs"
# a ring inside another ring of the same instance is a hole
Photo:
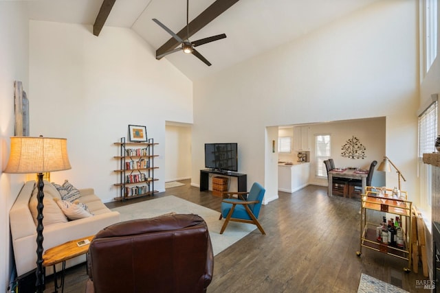
[[[259,183],[254,183],[249,192],[223,192],[223,196],[228,196],[221,201],[221,218],[225,218],[225,223],[221,227],[220,234],[223,234],[230,221],[255,224],[263,235],[266,235],[258,218],[263,203],[266,189]],[[232,198],[236,194],[238,198]]]

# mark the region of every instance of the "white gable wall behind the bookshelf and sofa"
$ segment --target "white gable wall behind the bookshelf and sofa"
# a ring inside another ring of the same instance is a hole
[[[192,123],[192,82],[130,29],[30,21],[30,133],[66,137],[72,169],[54,172],[76,187],[118,196],[118,148],[128,125],[154,138],[155,189],[164,191],[165,121]]]

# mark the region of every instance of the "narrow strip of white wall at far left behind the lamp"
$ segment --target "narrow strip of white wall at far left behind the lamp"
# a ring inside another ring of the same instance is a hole
[[[24,1],[0,1],[0,290],[6,291],[12,271],[9,210],[25,181],[20,174],[5,174],[10,137],[14,135],[14,80],[29,93],[28,11]]]

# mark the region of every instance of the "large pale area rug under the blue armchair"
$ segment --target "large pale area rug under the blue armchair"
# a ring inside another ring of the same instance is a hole
[[[245,237],[245,235],[248,235],[256,228],[252,224],[230,222],[223,234],[220,234],[224,220],[219,220],[220,213],[218,211],[177,198],[177,196],[164,196],[163,198],[137,202],[111,210],[120,212],[121,221],[152,218],[173,211],[175,213],[194,213],[199,215],[208,224],[214,255],[221,253],[221,251],[239,241],[239,239]]]

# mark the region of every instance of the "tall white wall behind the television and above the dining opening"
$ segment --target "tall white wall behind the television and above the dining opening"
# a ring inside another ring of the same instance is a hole
[[[192,180],[203,143],[239,143],[239,172],[265,181],[265,127],[386,117],[386,154],[417,187],[417,3],[378,1],[195,82]],[[404,143],[404,147],[402,147]],[[387,176],[387,185],[397,178]]]

